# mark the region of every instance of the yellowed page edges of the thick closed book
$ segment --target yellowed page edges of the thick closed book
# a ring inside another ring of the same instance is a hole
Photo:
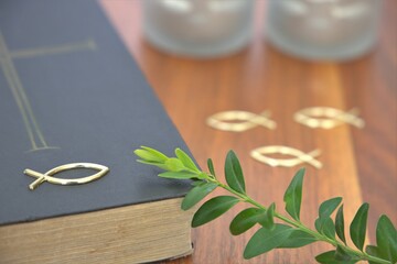
[[[1,263],[143,263],[192,252],[181,198],[0,227]]]

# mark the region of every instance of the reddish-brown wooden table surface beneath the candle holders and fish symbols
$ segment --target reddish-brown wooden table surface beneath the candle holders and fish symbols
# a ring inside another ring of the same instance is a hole
[[[103,0],[101,4],[152,85],[198,164],[212,157],[222,174],[233,148],[239,156],[247,193],[264,205],[282,196],[299,166],[270,167],[249,152],[265,145],[288,145],[303,152],[321,150],[323,168],[307,166],[302,221],[313,227],[319,205],[344,198],[350,222],[362,202],[369,202],[369,240],[386,213],[397,223],[397,2],[385,1],[379,43],[371,54],[345,63],[305,62],[278,52],[262,34],[265,1],[256,8],[255,35],[247,48],[216,59],[191,59],[159,52],[142,36],[141,12],[136,0]],[[332,130],[309,129],[293,121],[308,107],[360,109],[365,128],[343,124]],[[207,117],[225,110],[271,111],[276,130],[255,128],[244,133],[217,131]],[[222,194],[217,191],[216,194]],[[250,261],[243,251],[253,231],[232,237],[228,224],[242,209],[193,230],[195,252],[169,263],[314,263],[330,249],[315,243],[299,250],[277,250]]]

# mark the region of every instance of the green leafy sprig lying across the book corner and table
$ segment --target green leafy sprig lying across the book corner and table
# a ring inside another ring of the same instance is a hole
[[[217,187],[230,193],[232,196],[216,196],[205,201],[193,216],[193,228],[221,217],[238,202],[248,204],[250,207],[240,211],[229,226],[233,235],[242,234],[256,224],[260,226],[245,248],[245,258],[251,258],[275,249],[296,249],[314,242],[325,242],[335,249],[315,256],[319,263],[353,264],[367,261],[369,264],[394,264],[397,262],[397,231],[387,216],[382,216],[377,222],[376,245],[366,245],[364,250],[368,204],[360,207],[350,224],[350,237],[356,249],[346,242],[341,197],[331,198],[320,205],[319,217],[314,222],[315,230],[304,226],[300,221],[303,168],[298,170],[285,193],[283,201],[289,215],[287,217],[276,210],[275,204],[265,207],[246,194],[243,169],[233,151],[227,154],[225,161],[226,184],[221,183],[216,177],[212,160],[207,161],[210,172],[203,172],[180,148],[175,150],[175,157],[168,157],[148,146],[142,146],[135,153],[141,158],[138,162],[164,169],[164,173],[159,174],[160,177],[193,180],[193,188],[182,201],[183,210],[196,206]],[[335,218],[332,219],[331,216],[336,209]],[[279,221],[276,222],[275,219]]]

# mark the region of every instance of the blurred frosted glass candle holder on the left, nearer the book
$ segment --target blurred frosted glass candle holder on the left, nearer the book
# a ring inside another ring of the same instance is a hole
[[[179,55],[215,57],[245,47],[253,0],[142,0],[143,32],[155,47]]]

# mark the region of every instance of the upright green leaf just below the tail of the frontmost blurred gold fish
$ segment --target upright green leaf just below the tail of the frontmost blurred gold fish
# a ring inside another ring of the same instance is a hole
[[[287,212],[296,220],[299,220],[300,207],[302,202],[303,176],[304,168],[301,168],[292,178],[283,197]]]

